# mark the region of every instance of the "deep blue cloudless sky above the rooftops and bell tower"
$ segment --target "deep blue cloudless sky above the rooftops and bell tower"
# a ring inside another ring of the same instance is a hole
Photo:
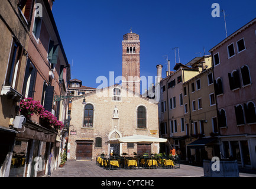
[[[203,55],[204,48],[209,54],[226,37],[223,13],[211,15],[213,3],[228,15],[228,35],[256,17],[254,0],[56,0],[53,15],[67,59],[73,61],[72,79],[96,88],[97,77],[109,78],[109,71],[122,75],[122,37],[130,27],[140,35],[141,76],[156,76],[157,64],[164,66],[165,76],[166,56],[170,67],[175,65],[174,47],[183,64]]]

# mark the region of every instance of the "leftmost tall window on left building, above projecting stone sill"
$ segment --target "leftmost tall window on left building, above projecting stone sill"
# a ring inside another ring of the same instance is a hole
[[[9,57],[9,63],[7,67],[7,75],[5,79],[5,86],[11,86],[13,89],[17,89],[18,76],[20,73],[21,59],[23,48],[19,43],[14,41],[12,43],[11,54]]]

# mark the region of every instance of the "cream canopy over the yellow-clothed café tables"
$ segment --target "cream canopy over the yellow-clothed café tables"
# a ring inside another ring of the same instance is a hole
[[[119,144],[119,143],[153,143],[153,142],[167,142],[165,138],[157,138],[153,136],[145,135],[132,135],[125,136],[117,139],[110,139],[109,144]]]

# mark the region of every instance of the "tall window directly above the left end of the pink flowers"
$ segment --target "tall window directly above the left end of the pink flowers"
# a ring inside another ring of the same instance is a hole
[[[32,98],[34,97],[36,78],[37,78],[37,69],[35,69],[34,65],[31,63],[30,58],[28,58],[27,66],[25,69],[23,89],[22,89],[23,96],[32,97]]]

